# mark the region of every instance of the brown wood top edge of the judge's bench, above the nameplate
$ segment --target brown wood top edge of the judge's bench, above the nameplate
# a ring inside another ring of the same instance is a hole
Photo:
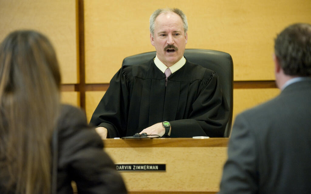
[[[105,148],[227,147],[229,138],[104,139]]]

